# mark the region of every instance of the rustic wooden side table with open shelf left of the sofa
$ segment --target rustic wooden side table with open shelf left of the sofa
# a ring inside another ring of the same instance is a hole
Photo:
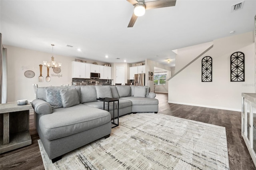
[[[0,104],[0,154],[32,144],[29,133],[29,110],[27,105],[17,102]]]

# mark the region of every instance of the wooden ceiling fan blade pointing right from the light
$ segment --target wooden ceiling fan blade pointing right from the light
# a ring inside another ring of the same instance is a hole
[[[176,0],[156,0],[145,2],[146,10],[175,6]]]

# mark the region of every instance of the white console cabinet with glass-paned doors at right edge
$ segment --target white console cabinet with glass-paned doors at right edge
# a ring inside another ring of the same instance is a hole
[[[256,93],[242,93],[241,131],[256,166]]]

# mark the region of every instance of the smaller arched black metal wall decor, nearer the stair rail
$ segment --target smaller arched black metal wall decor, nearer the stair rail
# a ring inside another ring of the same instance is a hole
[[[212,82],[212,57],[202,59],[202,82]]]

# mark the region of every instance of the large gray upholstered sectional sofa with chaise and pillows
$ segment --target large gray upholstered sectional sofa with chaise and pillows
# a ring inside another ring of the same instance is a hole
[[[147,86],[39,87],[32,101],[36,130],[52,162],[76,148],[111,133],[117,102],[108,105],[98,97],[119,99],[119,116],[158,112],[156,94]],[[114,114],[113,115],[113,108]]]

